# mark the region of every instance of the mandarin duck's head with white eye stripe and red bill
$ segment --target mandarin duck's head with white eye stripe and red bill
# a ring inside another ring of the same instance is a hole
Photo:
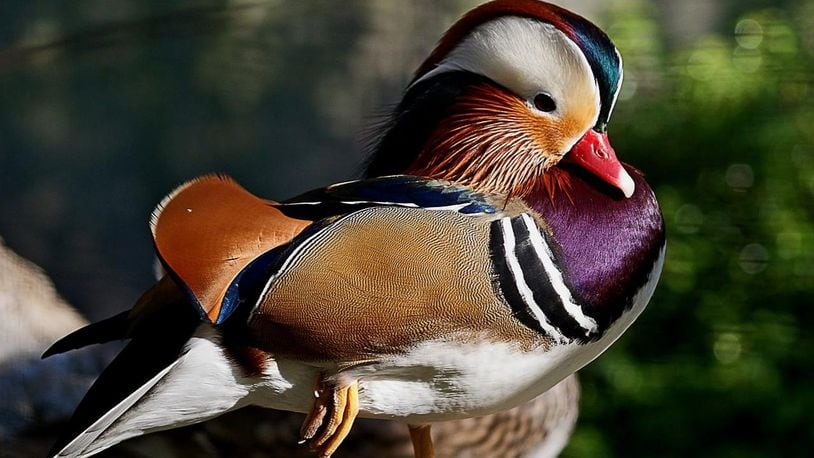
[[[537,0],[484,4],[419,67],[368,174],[525,195],[571,163],[630,197],[607,134],[621,84],[619,52],[586,19]]]

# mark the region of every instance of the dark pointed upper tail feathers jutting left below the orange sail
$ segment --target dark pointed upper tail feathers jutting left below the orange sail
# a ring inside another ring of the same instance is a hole
[[[43,358],[66,351],[76,350],[92,344],[123,340],[139,334],[149,334],[156,327],[163,326],[166,314],[173,314],[173,308],[194,309],[186,296],[169,276],[165,276],[147,290],[131,310],[119,313],[96,323],[91,323],[59,339],[51,345]],[[197,311],[197,309],[194,309]],[[184,313],[180,311],[180,313]]]

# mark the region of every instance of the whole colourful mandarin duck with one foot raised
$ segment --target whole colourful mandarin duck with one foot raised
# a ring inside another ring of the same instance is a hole
[[[129,338],[53,456],[243,406],[303,412],[331,456],[359,417],[501,412],[599,356],[649,301],[664,225],[607,124],[621,58],[536,0],[475,8],[419,67],[368,178],[284,200],[219,175],[150,221],[165,275],[44,356]]]

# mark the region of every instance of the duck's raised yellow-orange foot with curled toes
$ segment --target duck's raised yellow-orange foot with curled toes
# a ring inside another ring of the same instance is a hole
[[[300,429],[301,443],[310,442],[320,457],[333,455],[350,432],[359,413],[357,382],[338,387],[320,380],[314,407]]]

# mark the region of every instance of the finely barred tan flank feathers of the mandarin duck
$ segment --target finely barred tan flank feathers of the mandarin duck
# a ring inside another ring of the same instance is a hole
[[[257,345],[353,364],[461,335],[544,344],[495,294],[492,220],[390,207],[335,223],[270,285],[250,319]]]

